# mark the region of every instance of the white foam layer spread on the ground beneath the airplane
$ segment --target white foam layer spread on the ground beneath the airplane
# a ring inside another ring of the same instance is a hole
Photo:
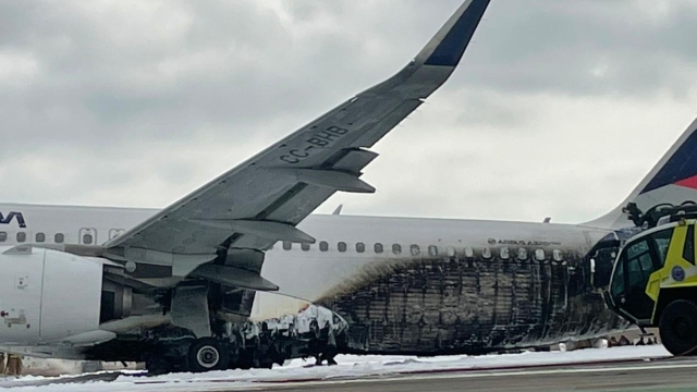
[[[273,369],[227,370],[207,373],[173,373],[158,377],[122,375],[114,381],[50,384],[37,387],[47,378],[23,377],[5,380],[0,387],[14,387],[13,391],[38,390],[40,392],[115,392],[115,391],[230,391],[246,390],[264,382],[337,380],[400,373],[456,371],[476,369],[501,369],[529,366],[571,365],[629,360],[639,358],[669,357],[662,345],[625,346],[614,348],[588,348],[574,352],[523,353],[486,356],[439,356],[419,358],[414,356],[355,356],[337,357],[338,366],[308,366],[311,362],[293,360]],[[70,379],[64,377],[62,380]]]

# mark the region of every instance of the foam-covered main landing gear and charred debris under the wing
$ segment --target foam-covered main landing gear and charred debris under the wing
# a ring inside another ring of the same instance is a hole
[[[182,293],[178,294],[180,299],[188,298]],[[178,322],[192,327],[200,323],[192,322],[182,315]],[[206,334],[215,338],[203,338],[191,328],[181,326],[147,330],[139,339],[134,338],[139,340],[140,345],[130,352],[144,353],[138,360],[145,360],[148,373],[161,375],[237,368],[270,369],[273,364],[283,365],[288,359],[306,357],[315,357],[318,364],[337,365],[334,357],[347,345],[346,322],[329,309],[317,306],[292,318],[272,319],[269,322],[233,323],[212,319],[209,324],[211,328]],[[296,327],[298,324],[303,328]]]

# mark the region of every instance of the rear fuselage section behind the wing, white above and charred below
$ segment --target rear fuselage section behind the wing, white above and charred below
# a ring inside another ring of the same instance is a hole
[[[344,219],[351,229],[362,218]],[[628,328],[601,295],[621,246],[617,233],[561,224],[408,223],[360,222],[368,229],[360,237],[352,231],[354,241],[342,241],[346,234],[327,246],[318,236],[317,249],[284,246],[269,255],[262,273],[282,294],[345,319],[346,353],[484,354]],[[386,232],[412,240],[366,241],[386,238]],[[283,265],[304,275],[274,267]]]

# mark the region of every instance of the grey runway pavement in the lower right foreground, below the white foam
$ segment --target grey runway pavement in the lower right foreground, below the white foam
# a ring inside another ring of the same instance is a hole
[[[667,359],[629,364],[582,365],[525,370],[417,375],[362,380],[258,385],[254,391],[696,391],[697,359]]]

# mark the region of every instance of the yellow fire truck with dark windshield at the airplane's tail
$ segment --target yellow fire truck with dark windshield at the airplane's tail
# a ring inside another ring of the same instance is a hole
[[[658,327],[671,354],[697,355],[696,216],[665,218],[622,248],[606,303],[640,328]]]

